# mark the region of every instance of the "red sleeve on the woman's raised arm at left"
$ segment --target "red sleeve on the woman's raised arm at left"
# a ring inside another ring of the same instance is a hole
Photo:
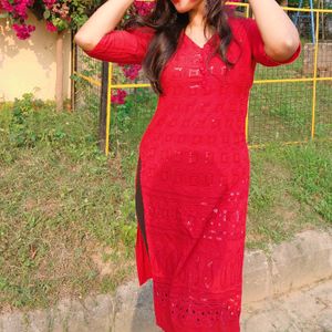
[[[89,56],[118,64],[141,64],[154,35],[149,27],[112,30],[90,51]]]

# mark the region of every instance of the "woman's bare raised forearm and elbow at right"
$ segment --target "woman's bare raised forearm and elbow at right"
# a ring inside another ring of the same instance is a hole
[[[282,61],[290,58],[300,43],[299,32],[276,0],[249,0],[268,55]]]

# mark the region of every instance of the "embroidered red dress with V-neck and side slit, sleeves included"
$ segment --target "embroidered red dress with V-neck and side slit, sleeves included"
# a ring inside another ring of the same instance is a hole
[[[136,173],[136,263],[139,284],[153,279],[156,324],[166,332],[240,330],[249,194],[248,96],[257,63],[269,58],[253,19],[229,17],[235,38],[227,70],[184,31],[162,73],[164,94],[141,144]],[[142,63],[149,28],[107,33],[90,56]]]

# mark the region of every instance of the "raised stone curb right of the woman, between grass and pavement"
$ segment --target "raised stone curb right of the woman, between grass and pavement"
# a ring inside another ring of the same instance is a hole
[[[246,251],[242,302],[290,292],[332,277],[332,231],[305,230],[291,241]]]

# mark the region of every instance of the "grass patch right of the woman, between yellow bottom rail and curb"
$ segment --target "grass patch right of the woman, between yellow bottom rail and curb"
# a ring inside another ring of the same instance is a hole
[[[332,141],[250,149],[247,248],[332,226]]]

